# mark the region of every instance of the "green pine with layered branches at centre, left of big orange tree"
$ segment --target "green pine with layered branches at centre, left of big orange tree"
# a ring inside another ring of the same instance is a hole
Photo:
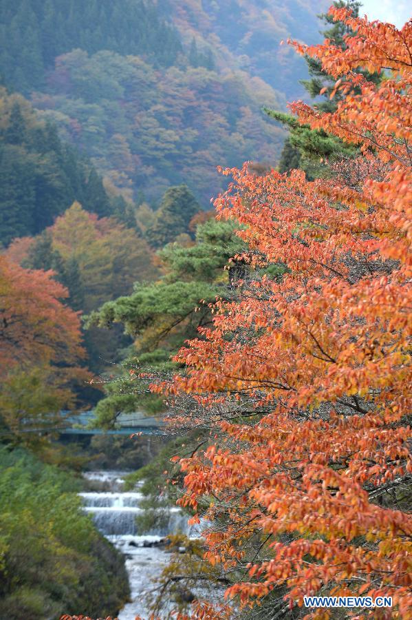
[[[210,322],[208,304],[199,304],[199,300],[208,302],[228,293],[225,284],[231,274],[223,267],[243,249],[246,246],[232,223],[212,218],[197,225],[191,247],[175,242],[159,252],[162,278],[136,283],[131,295],[103,304],[89,316],[89,327],[113,328],[122,323],[124,332],[135,340],[135,350],[129,355],[138,355],[142,368],[164,369],[171,353],[186,338],[195,337],[197,327]],[[125,362],[124,366],[130,369],[130,364]],[[102,426],[113,423],[118,411],[153,411],[155,406],[162,406],[142,390],[130,391],[129,382],[123,379],[108,388],[107,397],[96,410]]]

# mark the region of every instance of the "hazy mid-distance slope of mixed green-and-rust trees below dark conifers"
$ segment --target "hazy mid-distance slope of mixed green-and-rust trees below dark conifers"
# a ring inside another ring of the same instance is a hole
[[[186,183],[206,207],[223,187],[217,165],[274,165],[283,130],[261,111],[279,107],[270,86],[240,70],[154,70],[138,56],[74,50],[56,60],[34,105],[124,196],[158,200]]]

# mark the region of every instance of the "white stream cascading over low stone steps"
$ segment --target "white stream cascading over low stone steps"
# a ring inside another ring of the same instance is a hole
[[[169,553],[155,546],[156,542],[177,531],[191,536],[198,533],[188,528],[187,517],[182,515],[179,508],[170,508],[164,526],[155,528],[146,535],[138,535],[135,519],[142,513],[142,494],[122,492],[123,475],[123,472],[87,473],[87,479],[97,481],[110,490],[80,493],[80,496],[85,510],[93,515],[100,532],[126,557],[131,603],[124,606],[118,619],[134,620],[136,615],[147,619],[149,611],[144,603],[144,595],[155,587],[151,580],[160,575],[170,559]]]

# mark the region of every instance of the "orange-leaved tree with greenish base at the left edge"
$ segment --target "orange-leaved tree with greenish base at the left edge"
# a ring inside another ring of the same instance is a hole
[[[80,317],[52,276],[0,256],[1,436],[36,451],[76,402],[74,386],[89,378]]]

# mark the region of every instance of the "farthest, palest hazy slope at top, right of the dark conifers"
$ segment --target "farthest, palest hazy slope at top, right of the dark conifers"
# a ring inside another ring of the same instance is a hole
[[[316,15],[326,0],[159,0],[159,6],[190,43],[213,49],[219,67],[226,64],[259,76],[288,101],[304,92],[299,80],[307,74],[305,62],[281,41],[293,37],[319,41]],[[298,17],[299,16],[299,17]]]

